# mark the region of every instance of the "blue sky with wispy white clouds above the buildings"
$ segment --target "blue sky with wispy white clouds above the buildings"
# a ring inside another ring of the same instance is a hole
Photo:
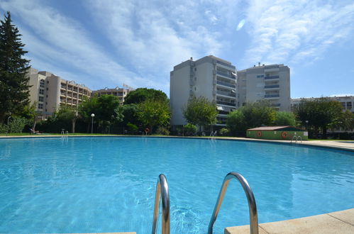
[[[354,2],[1,0],[35,69],[104,87],[170,89],[170,71],[215,55],[284,64],[291,96],[354,95]]]

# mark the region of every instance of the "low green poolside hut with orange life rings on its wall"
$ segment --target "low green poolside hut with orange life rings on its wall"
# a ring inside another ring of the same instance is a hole
[[[294,135],[300,136],[302,140],[308,140],[309,134],[306,130],[292,126],[271,126],[250,128],[247,130],[248,138],[267,139],[267,140],[292,140]]]

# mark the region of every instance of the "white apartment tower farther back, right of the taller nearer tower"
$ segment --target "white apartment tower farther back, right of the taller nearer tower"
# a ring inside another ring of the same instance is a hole
[[[260,65],[239,70],[238,106],[269,100],[280,111],[290,111],[290,69],[284,65]]]

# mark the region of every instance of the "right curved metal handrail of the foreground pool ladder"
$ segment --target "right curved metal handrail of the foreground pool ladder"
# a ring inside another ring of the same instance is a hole
[[[245,191],[245,194],[247,196],[248,208],[250,210],[250,233],[258,234],[258,214],[257,205],[255,204],[255,196],[253,195],[253,191],[250,188],[250,185],[248,184],[247,180],[237,172],[230,172],[226,174],[225,179],[223,179],[223,185],[221,186],[218,200],[216,201],[213,215],[211,216],[209,222],[208,234],[213,233],[213,226],[216,221],[216,218],[218,218],[221,204],[223,203],[223,197],[225,196],[226,189],[228,188],[228,183],[233,178],[238,179],[238,182],[240,182],[241,186],[243,187],[243,191]]]

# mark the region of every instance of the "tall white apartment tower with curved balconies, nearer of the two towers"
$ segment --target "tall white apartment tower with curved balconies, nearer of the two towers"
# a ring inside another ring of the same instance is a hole
[[[212,55],[184,61],[170,72],[172,126],[187,123],[182,108],[193,96],[215,101],[219,115],[216,126],[225,126],[226,115],[237,108],[236,67]]]

